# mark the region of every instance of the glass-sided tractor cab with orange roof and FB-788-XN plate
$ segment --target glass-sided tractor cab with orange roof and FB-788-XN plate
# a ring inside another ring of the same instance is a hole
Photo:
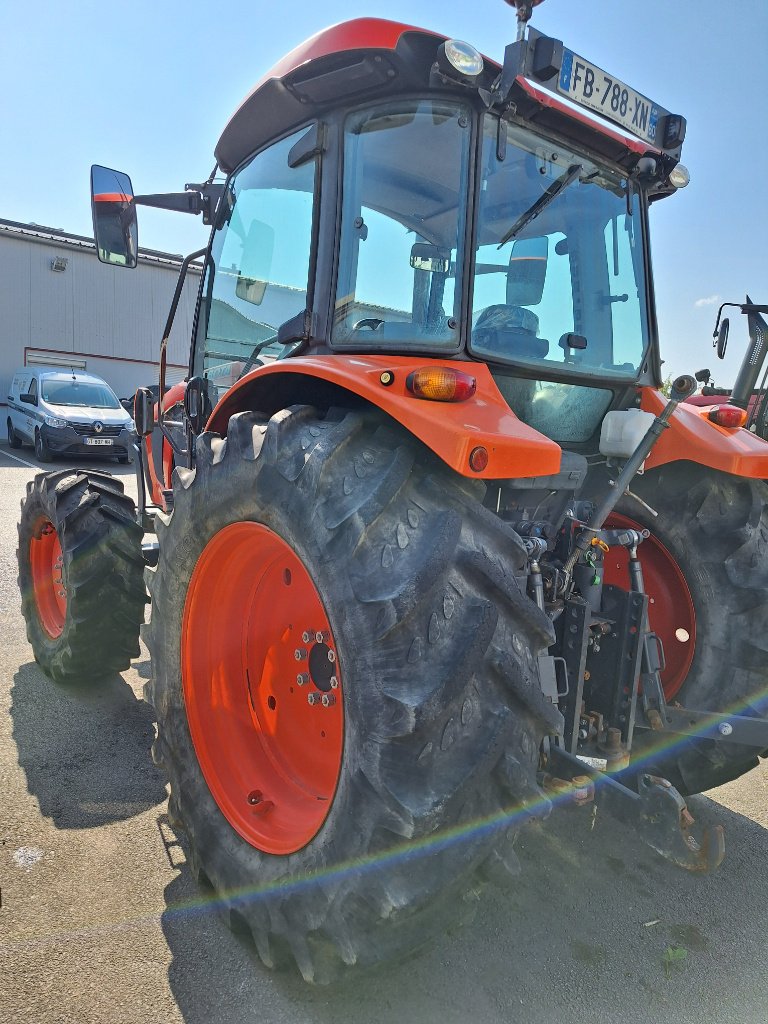
[[[501,67],[409,26],[329,29],[219,140],[193,372],[215,406],[270,350],[481,361],[521,420],[585,442],[659,379],[647,210],[687,180],[683,134],[532,30]]]

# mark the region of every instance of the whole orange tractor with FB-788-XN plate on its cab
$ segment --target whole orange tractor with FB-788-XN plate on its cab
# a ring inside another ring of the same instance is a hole
[[[59,682],[128,666],[146,565],[193,869],[316,982],[454,921],[561,801],[717,866],[683,795],[768,750],[768,445],[658,390],[648,212],[685,121],[516,6],[501,63],[319,33],[184,193],[93,169],[106,262],[135,265],[138,205],[211,224],[188,377],[166,391],[164,340],[138,509],[67,470],[23,507]]]

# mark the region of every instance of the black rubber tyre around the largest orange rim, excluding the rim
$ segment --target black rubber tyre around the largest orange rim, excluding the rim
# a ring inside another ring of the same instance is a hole
[[[267,423],[243,413],[226,439],[204,434],[197,452],[195,470],[176,470],[174,510],[157,525],[160,560],[146,570],[155,758],[193,870],[230,926],[251,934],[268,967],[292,958],[307,981],[328,983],[345,965],[400,956],[455,924],[477,869],[517,871],[521,819],[549,811],[539,749],[561,720],[542,695],[537,654],[552,626],[520,591],[524,549],[480,504],[483,485],[377,418],[323,420],[296,407]],[[288,857],[259,852],[224,819],[184,712],[189,577],[238,520],[265,524],[302,558],[344,679],[338,791],[318,835]]]

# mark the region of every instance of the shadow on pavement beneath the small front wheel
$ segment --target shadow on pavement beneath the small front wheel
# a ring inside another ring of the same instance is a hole
[[[150,755],[154,713],[121,676],[65,687],[24,665],[10,714],[27,787],[57,828],[93,828],[165,801]]]

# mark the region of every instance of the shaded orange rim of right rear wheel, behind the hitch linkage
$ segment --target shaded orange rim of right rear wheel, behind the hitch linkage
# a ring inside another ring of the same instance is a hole
[[[630,529],[643,527],[627,516],[614,513],[608,526]],[[674,555],[651,532],[637,549],[648,594],[648,622],[662,638],[667,662],[662,673],[664,694],[668,700],[680,690],[693,663],[696,647],[696,612],[688,584]],[[605,583],[629,586],[629,554],[625,548],[611,548],[605,556]]]

